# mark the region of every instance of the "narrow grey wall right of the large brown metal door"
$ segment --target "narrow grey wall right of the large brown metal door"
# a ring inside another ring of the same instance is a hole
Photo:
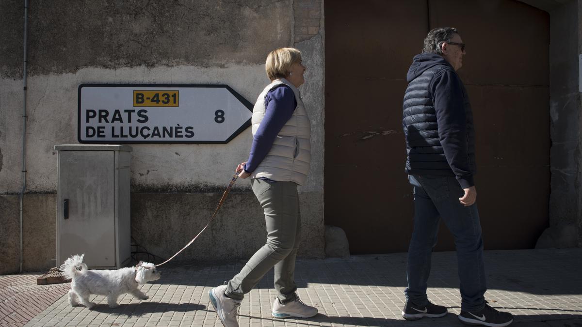
[[[554,233],[557,247],[582,246],[580,15],[579,1],[563,3],[550,12],[552,179],[549,201],[551,230],[548,233],[552,229],[561,231]]]

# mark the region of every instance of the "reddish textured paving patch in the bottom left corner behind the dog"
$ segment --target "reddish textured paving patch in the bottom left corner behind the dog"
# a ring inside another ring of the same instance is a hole
[[[69,292],[70,284],[37,285],[38,276],[0,276],[0,326],[24,326]]]

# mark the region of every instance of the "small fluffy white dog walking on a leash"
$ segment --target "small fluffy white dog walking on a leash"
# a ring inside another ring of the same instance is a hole
[[[147,300],[148,296],[137,287],[158,280],[162,275],[155,269],[154,264],[149,262],[117,270],[88,270],[87,265],[83,264],[83,257],[84,254],[73,255],[61,265],[63,275],[67,279],[72,279],[69,303],[73,307],[79,304],[77,300],[88,308],[93,307],[95,303],[89,301],[91,294],[107,296],[107,303],[111,308],[119,307],[117,299],[125,293],[132,294],[140,300]]]

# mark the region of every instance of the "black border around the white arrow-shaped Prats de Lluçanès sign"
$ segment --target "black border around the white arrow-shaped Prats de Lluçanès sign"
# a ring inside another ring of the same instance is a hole
[[[83,83],[79,85],[78,95],[77,95],[77,141],[81,144],[226,144],[229,143],[233,138],[246,130],[251,126],[251,119],[247,120],[242,126],[239,127],[232,135],[230,135],[224,141],[84,141],[81,140],[81,88],[83,87],[212,87],[212,88],[226,88],[232,95],[235,96],[244,106],[253,112],[253,104],[249,100],[243,98],[242,95],[238,94],[230,86],[226,84],[90,84]]]

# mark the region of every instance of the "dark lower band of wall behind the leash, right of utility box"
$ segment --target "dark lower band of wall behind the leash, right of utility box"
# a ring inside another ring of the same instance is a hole
[[[132,237],[150,253],[171,257],[204,228],[222,196],[217,193],[133,193]],[[322,241],[317,194],[300,193],[301,255],[316,257],[313,244]],[[307,218],[307,219],[306,219]],[[230,193],[207,230],[176,257],[184,260],[250,258],[265,244],[262,208],[249,193]]]

